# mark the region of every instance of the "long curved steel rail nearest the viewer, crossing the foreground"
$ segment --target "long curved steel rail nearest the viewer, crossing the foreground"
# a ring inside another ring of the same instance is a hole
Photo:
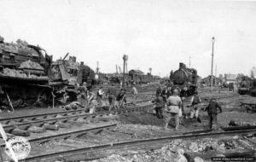
[[[106,149],[116,149],[116,148],[129,148],[129,147],[135,147],[135,146],[141,146],[145,144],[154,144],[155,142],[169,142],[174,139],[198,139],[202,137],[214,137],[214,136],[231,136],[231,135],[244,135],[245,133],[252,133],[256,132],[256,129],[254,130],[234,130],[234,131],[224,131],[224,132],[209,132],[209,133],[201,133],[201,134],[194,134],[194,135],[183,135],[183,136],[163,136],[163,137],[157,137],[157,138],[148,138],[148,139],[142,139],[142,140],[134,140],[134,141],[127,141],[127,142],[114,142],[114,143],[108,143],[103,144],[95,147],[89,147],[89,148],[75,148],[67,151],[61,151],[61,152],[55,152],[55,153],[45,153],[40,154],[32,157],[27,157],[26,159],[20,160],[20,161],[39,161],[39,160],[48,160],[49,159],[56,159],[59,156],[65,158],[69,156],[74,155],[83,155],[93,152],[94,154],[97,154],[96,152],[106,150]],[[95,159],[95,158],[94,158]],[[83,159],[86,160],[86,159]],[[90,160],[90,159],[87,159]]]

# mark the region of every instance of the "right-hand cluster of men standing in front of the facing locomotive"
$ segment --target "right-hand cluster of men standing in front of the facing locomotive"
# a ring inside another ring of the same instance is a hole
[[[155,103],[155,113],[159,119],[165,120],[164,129],[168,129],[168,125],[171,119],[175,120],[175,129],[177,130],[179,124],[183,124],[183,119],[188,118],[188,116],[184,112],[183,102],[184,97],[180,97],[180,89],[178,87],[164,87],[161,90],[159,86],[156,90],[156,98],[152,101]],[[195,91],[192,96],[189,105],[189,119],[196,119],[199,123],[201,123],[201,119],[199,116],[199,112],[201,110],[201,97],[198,95],[198,92]],[[217,126],[217,108],[219,109],[219,113],[222,113],[222,108],[219,106],[216,99],[212,98],[207,107],[204,108],[207,111],[209,116],[209,129],[216,128]]]

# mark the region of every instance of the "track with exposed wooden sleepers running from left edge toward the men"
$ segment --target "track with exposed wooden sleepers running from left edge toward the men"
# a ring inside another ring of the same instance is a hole
[[[85,113],[84,109],[56,113],[41,113],[8,119],[0,119],[0,122],[3,124],[3,129],[9,134],[16,136],[30,136],[31,132],[40,133],[44,130],[59,130],[59,128],[70,128],[72,124],[83,124],[96,118],[109,118],[113,114],[141,111],[152,106],[153,104],[147,104],[144,106],[123,108],[111,112],[105,111],[99,113]]]

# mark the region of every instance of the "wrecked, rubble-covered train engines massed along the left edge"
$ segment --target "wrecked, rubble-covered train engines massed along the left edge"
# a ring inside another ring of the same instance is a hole
[[[5,43],[0,36],[0,105],[9,105],[9,101],[14,107],[66,102],[76,95],[76,84],[88,82],[91,86],[95,76],[90,67],[80,65],[74,57],[65,58],[52,61],[39,46],[20,39]]]

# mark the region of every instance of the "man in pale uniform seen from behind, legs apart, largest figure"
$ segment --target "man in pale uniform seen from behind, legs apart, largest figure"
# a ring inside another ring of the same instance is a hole
[[[166,101],[166,125],[165,129],[167,129],[168,124],[172,118],[175,119],[175,130],[178,129],[179,126],[179,118],[178,118],[178,113],[180,111],[180,108],[182,106],[182,100],[178,96],[179,92],[177,89],[173,90],[173,95],[171,95],[167,101]]]

